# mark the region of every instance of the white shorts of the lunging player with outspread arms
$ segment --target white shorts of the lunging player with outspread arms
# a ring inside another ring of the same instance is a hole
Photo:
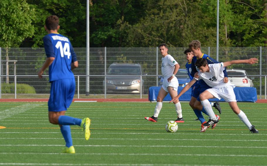
[[[211,88],[207,89],[214,97],[221,99],[223,98],[227,102],[235,101],[236,95],[234,94],[234,89],[232,86],[226,86],[222,88]]]

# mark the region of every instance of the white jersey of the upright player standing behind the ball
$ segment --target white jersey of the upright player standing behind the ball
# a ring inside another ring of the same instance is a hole
[[[174,65],[178,63],[170,54],[161,58],[161,60],[162,60],[161,72],[162,72],[163,77],[170,77],[171,75],[173,75]]]

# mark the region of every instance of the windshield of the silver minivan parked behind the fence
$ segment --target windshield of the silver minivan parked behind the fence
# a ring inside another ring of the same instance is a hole
[[[108,74],[141,75],[141,68],[139,66],[131,66],[131,65],[112,65],[109,67]]]

